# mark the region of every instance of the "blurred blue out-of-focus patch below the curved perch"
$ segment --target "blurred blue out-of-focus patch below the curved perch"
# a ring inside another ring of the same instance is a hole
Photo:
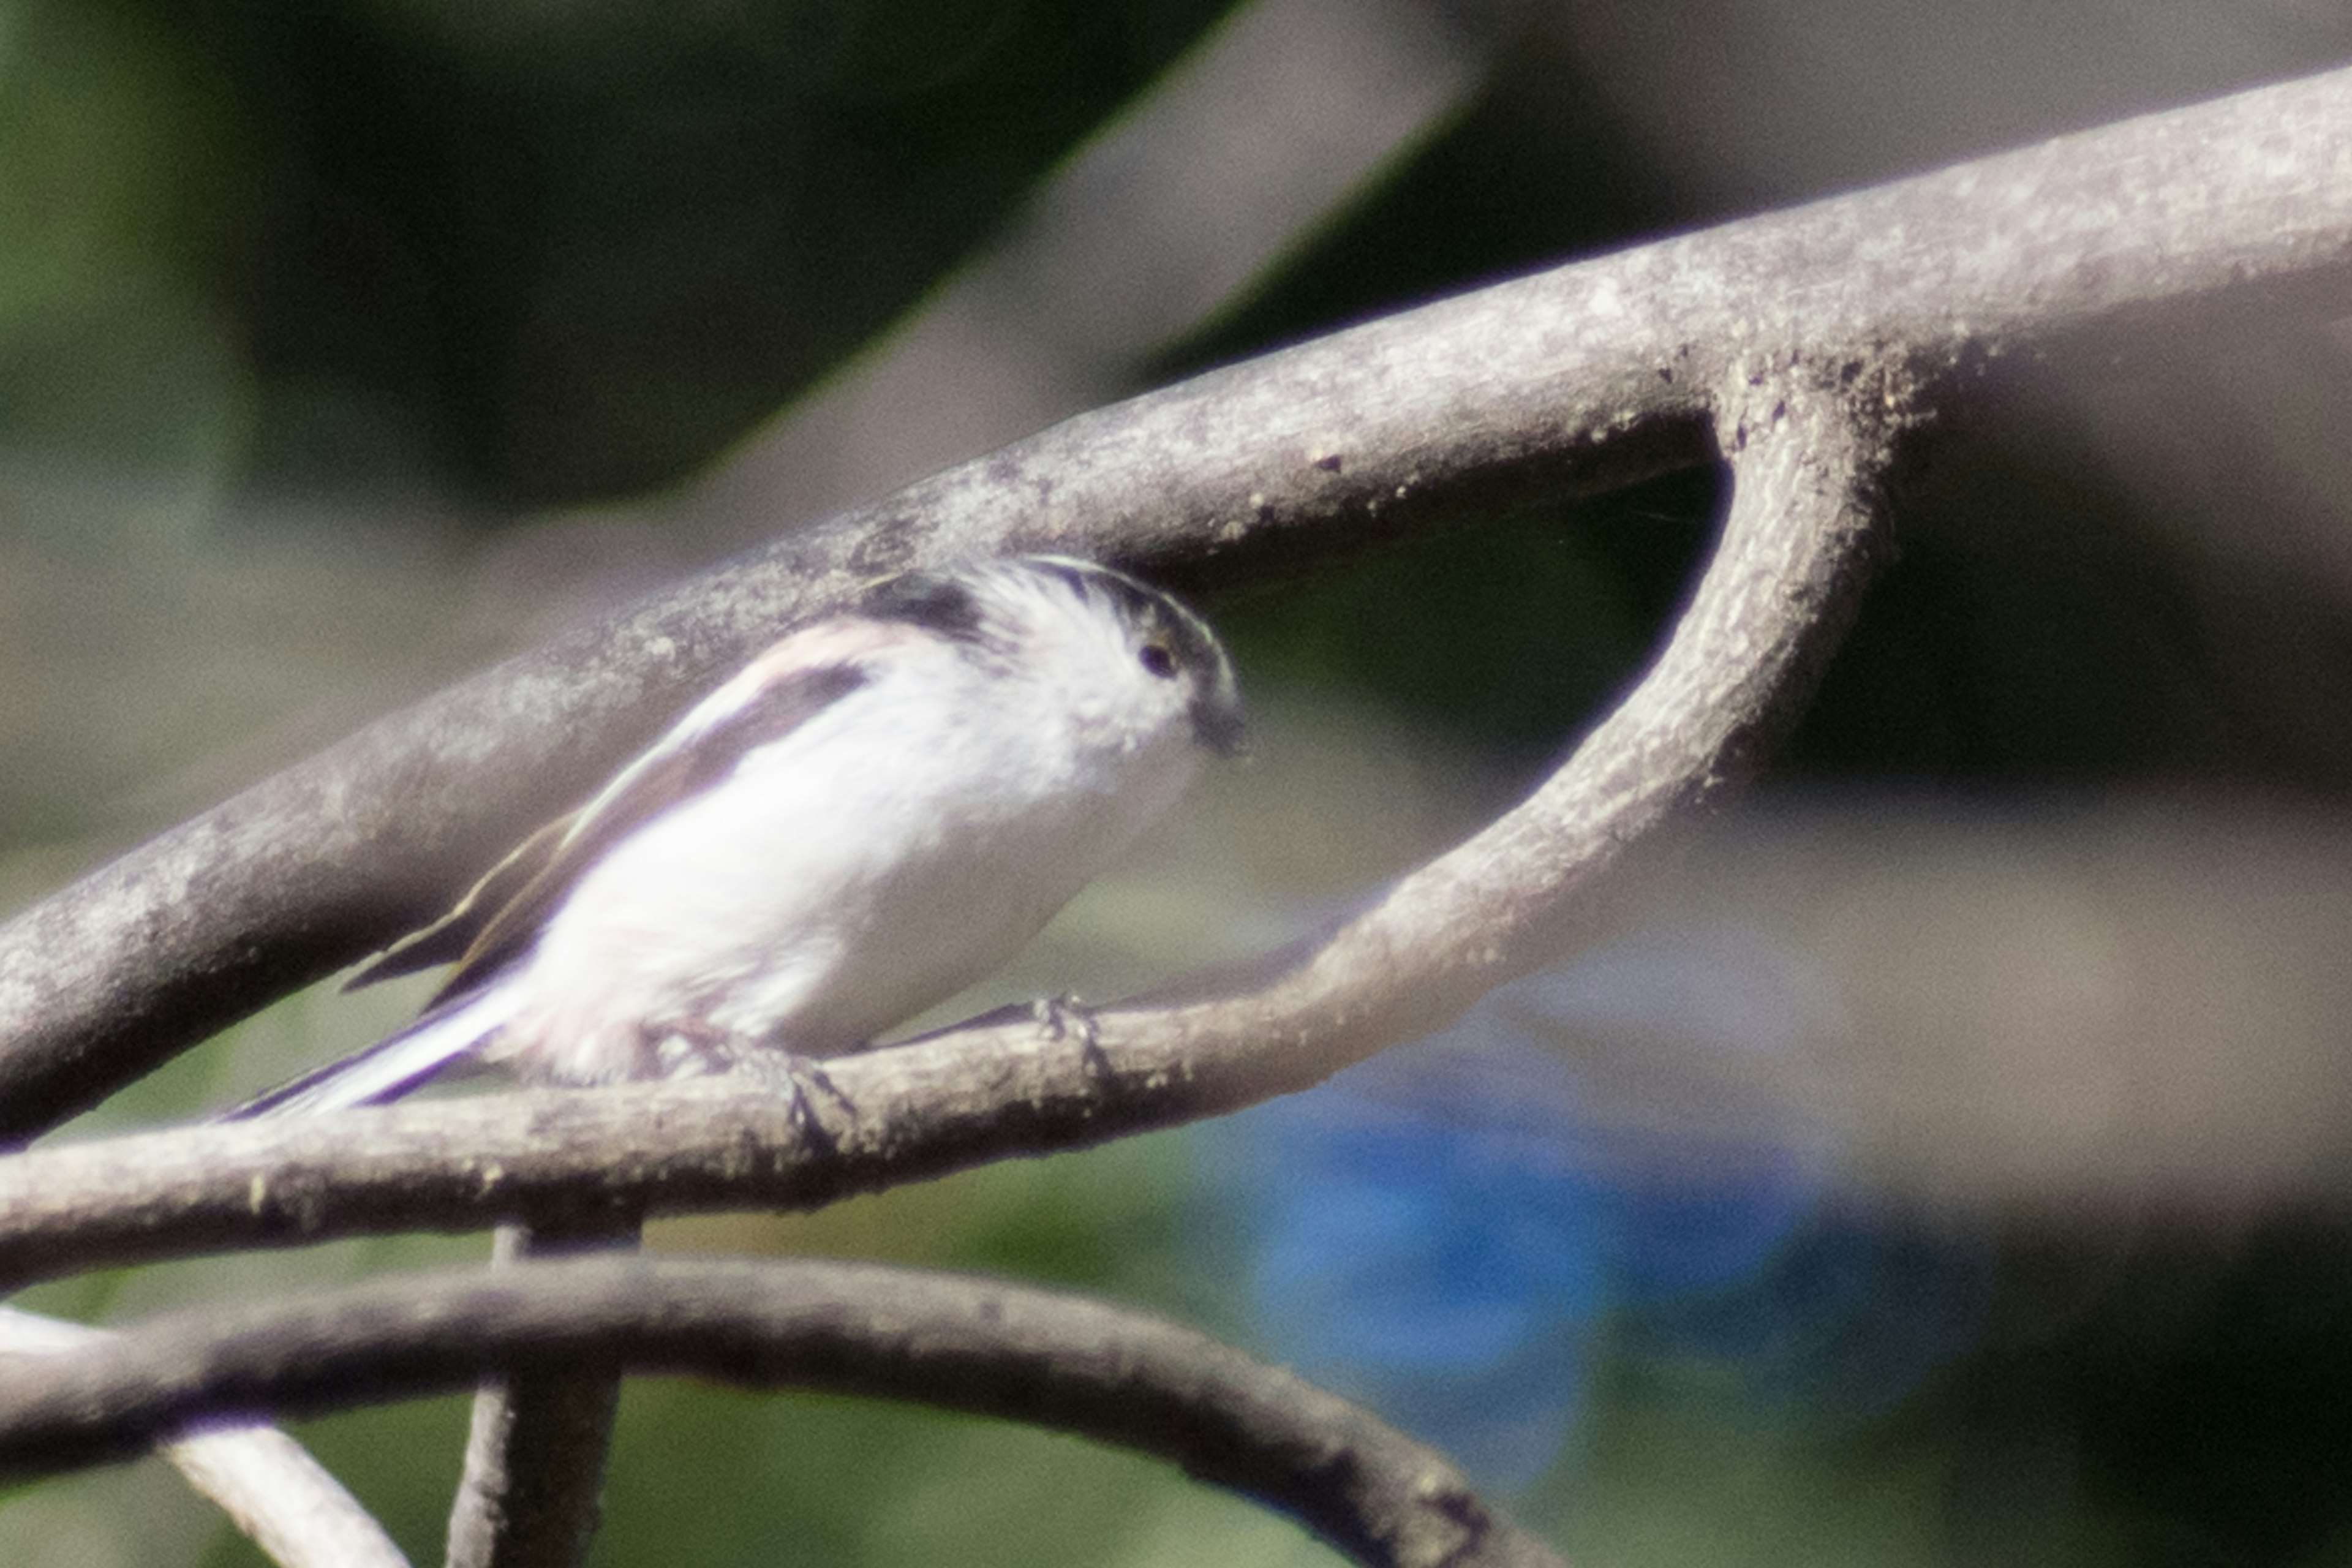
[[[1973,1338],[1990,1262],[1839,1187],[1837,1030],[1797,954],[1663,929],[1204,1128],[1251,1328],[1503,1488],[1604,1326],[1759,1408],[1882,1408]]]

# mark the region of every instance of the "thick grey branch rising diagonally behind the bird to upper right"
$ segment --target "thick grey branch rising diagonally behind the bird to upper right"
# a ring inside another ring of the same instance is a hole
[[[2065,136],[1369,322],[1084,414],[659,595],[254,785],[0,929],[0,1138],[381,945],[682,693],[858,578],[1014,548],[1207,583],[1703,461],[1799,360],[1950,378],[2340,275],[2352,73]]]

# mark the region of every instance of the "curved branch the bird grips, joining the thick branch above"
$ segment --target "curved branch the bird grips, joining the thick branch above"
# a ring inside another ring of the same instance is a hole
[[[816,1206],[1305,1088],[1550,961],[1625,853],[1693,816],[1792,717],[1860,592],[1905,423],[1884,381],[1759,378],[1726,421],[1724,538],[1665,654],[1524,804],[1327,940],[1218,994],[1011,1009],[840,1058],[823,1126],[729,1084],[485,1095],[113,1138],[0,1159],[0,1279],[501,1218]]]

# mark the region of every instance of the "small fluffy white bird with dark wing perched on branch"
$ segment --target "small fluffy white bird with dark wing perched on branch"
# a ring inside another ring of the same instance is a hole
[[[1240,745],[1200,616],[1054,555],[887,578],[694,705],[353,985],[456,961],[407,1030],[233,1117],[816,1058],[988,976]]]

